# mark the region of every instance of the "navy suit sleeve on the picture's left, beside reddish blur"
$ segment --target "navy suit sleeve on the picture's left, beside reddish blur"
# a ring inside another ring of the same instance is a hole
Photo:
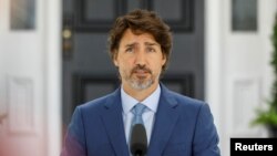
[[[75,108],[68,127],[61,156],[86,156],[84,125],[79,107]]]

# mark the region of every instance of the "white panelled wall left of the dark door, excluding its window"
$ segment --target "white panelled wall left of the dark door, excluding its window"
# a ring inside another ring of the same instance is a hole
[[[35,0],[33,30],[10,29],[11,2],[0,0],[0,153],[60,155],[62,1]]]

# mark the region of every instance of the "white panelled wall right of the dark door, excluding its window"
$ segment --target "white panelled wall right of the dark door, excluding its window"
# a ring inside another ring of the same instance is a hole
[[[255,108],[265,105],[273,80],[270,35],[276,1],[257,0],[258,30],[232,31],[232,0],[206,3],[206,97],[215,114],[223,155],[230,137],[266,136],[250,127]]]

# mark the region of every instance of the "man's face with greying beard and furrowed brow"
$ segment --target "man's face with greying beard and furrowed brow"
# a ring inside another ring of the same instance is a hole
[[[135,90],[158,84],[165,56],[161,45],[150,33],[134,34],[127,29],[120,42],[114,64],[119,67],[123,86]]]

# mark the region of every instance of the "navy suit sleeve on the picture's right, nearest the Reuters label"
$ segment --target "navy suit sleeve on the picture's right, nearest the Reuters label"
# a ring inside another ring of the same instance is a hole
[[[207,104],[201,106],[193,143],[194,156],[220,156],[218,134]]]

